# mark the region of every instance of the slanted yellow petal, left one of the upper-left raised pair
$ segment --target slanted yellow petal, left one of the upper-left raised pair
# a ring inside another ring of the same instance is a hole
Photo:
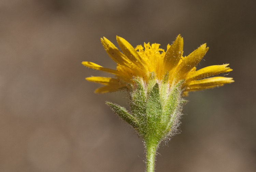
[[[103,39],[101,38],[101,43],[105,48],[105,51],[116,63],[119,63],[120,65],[130,66],[130,60],[123,53],[121,53],[112,42],[103,37]]]

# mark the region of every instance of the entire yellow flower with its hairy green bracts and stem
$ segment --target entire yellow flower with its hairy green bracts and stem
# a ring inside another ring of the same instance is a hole
[[[101,38],[106,52],[117,63],[116,70],[93,62],[82,62],[87,67],[112,73],[115,78],[91,76],[86,80],[105,85],[95,90],[98,93],[128,90],[130,111],[111,102],[107,104],[142,137],[147,171],[154,172],[159,144],[177,133],[185,102],[182,94],[234,82],[228,77],[210,77],[232,69],[225,64],[196,70],[208,47],[203,44],[183,57],[181,35],[172,45],[167,45],[167,51],[156,43],[144,43],[144,47],[138,45],[133,48],[125,39],[118,36],[116,39],[123,53],[108,39]]]

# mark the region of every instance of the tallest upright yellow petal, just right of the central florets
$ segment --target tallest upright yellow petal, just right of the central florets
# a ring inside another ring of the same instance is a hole
[[[165,64],[165,70],[170,71],[175,68],[183,54],[183,38],[179,34],[171,47],[166,51],[163,62]]]

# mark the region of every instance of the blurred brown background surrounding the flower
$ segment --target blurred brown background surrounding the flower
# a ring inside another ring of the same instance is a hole
[[[88,76],[111,76],[100,37],[184,55],[207,43],[198,69],[230,63],[235,82],[186,97],[181,133],[158,149],[157,172],[256,171],[256,1],[1,0],[0,171],[143,172],[144,147],[94,94]],[[222,76],[222,75],[220,75]]]

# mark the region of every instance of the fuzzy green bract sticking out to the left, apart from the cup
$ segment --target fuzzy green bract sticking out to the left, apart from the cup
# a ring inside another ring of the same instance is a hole
[[[131,114],[129,114],[124,107],[121,107],[118,104],[114,104],[111,102],[106,102],[106,104],[110,106],[110,108],[114,111],[115,114],[120,116],[120,118],[124,119],[133,128],[137,129],[139,127],[137,119]]]

